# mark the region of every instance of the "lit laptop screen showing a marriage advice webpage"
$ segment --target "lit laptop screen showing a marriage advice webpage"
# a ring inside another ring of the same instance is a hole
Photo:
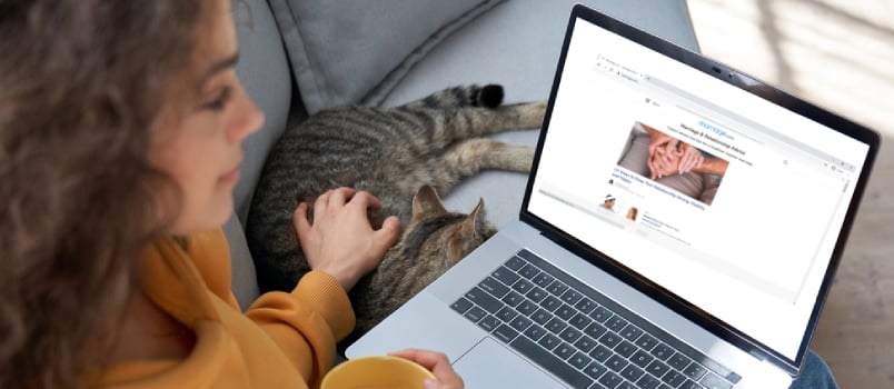
[[[583,19],[567,44],[525,210],[794,363],[870,147]]]

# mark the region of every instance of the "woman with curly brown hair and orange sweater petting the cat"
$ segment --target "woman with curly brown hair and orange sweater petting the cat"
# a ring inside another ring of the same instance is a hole
[[[0,0],[0,387],[316,387],[399,226],[349,188],[299,206],[315,270],[239,309],[219,228],[264,116],[230,0]]]

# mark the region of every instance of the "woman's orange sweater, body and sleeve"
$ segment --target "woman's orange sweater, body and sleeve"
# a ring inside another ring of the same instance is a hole
[[[140,277],[150,299],[196,333],[182,360],[126,362],[102,372],[103,388],[307,388],[331,367],[336,341],[355,325],[347,293],[311,271],[291,293],[261,296],[242,313],[230,289],[221,230],[152,245]]]

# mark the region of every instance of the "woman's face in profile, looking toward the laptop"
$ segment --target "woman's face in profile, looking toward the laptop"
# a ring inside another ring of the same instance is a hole
[[[178,103],[162,109],[162,124],[152,143],[152,163],[181,189],[173,235],[201,232],[227,221],[239,180],[242,140],[264,123],[264,113],[236,77],[238,48],[229,4],[229,0],[216,1],[210,20],[199,28],[197,98],[187,99],[186,107],[183,99],[170,100]]]

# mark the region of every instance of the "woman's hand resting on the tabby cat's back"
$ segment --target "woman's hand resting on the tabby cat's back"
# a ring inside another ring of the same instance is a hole
[[[385,219],[379,230],[369,225],[367,210],[380,207],[369,192],[338,188],[317,198],[311,223],[307,203],[299,203],[292,221],[310,268],[329,273],[350,291],[397,242],[400,221],[396,217]]]

